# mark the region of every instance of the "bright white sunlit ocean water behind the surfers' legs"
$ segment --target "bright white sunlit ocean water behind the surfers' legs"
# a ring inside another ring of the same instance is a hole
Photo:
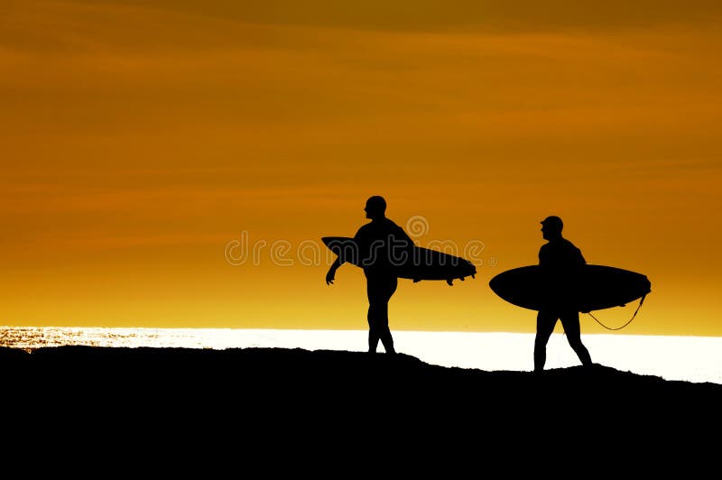
[[[184,348],[280,347],[366,351],[366,330],[245,328],[0,327],[0,346]],[[486,371],[531,371],[533,334],[393,331],[397,351],[433,365]],[[722,384],[722,337],[583,335],[595,363],[667,380]],[[383,347],[379,347],[383,351]],[[579,365],[563,334],[552,335],[546,368]]]

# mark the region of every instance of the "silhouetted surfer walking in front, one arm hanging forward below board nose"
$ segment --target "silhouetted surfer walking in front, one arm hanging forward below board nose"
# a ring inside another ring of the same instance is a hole
[[[386,217],[386,200],[374,196],[366,200],[366,218],[371,219],[358,229],[354,240],[357,254],[366,275],[368,295],[368,351],[376,352],[379,341],[386,353],[396,353],[389,329],[389,300],[396,291],[398,278],[394,264],[401,263],[413,241],[401,226]],[[326,283],[336,278],[336,271],[345,261],[339,256],[326,273]]]

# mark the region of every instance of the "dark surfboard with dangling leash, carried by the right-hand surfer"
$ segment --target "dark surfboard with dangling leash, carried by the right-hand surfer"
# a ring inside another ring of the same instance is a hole
[[[528,265],[501,272],[489,281],[491,290],[502,299],[524,309],[548,307],[555,293],[554,282],[539,265]],[[586,264],[573,283],[561,287],[566,305],[588,313],[592,310],[624,307],[643,299],[652,291],[652,283],[642,273]]]

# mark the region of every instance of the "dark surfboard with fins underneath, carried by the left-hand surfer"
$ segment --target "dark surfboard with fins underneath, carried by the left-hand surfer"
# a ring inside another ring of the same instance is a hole
[[[321,241],[344,262],[363,268],[364,259],[353,238],[324,236]],[[411,249],[395,256],[398,258],[393,259],[393,272],[398,278],[413,282],[443,280],[452,285],[454,280],[463,282],[466,277],[475,278],[477,274],[477,267],[468,260],[422,246],[413,245]]]

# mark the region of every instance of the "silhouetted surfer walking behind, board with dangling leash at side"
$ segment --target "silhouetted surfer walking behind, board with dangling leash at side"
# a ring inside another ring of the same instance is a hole
[[[582,365],[592,365],[587,347],[581,343],[579,310],[574,303],[575,286],[580,267],[587,263],[579,248],[561,235],[560,217],[542,220],[542,236],[548,243],[539,250],[539,264],[547,279],[545,305],[536,318],[534,340],[534,372],[541,373],[547,359],[547,343],[557,320],[561,321],[569,346],[579,356]]]

